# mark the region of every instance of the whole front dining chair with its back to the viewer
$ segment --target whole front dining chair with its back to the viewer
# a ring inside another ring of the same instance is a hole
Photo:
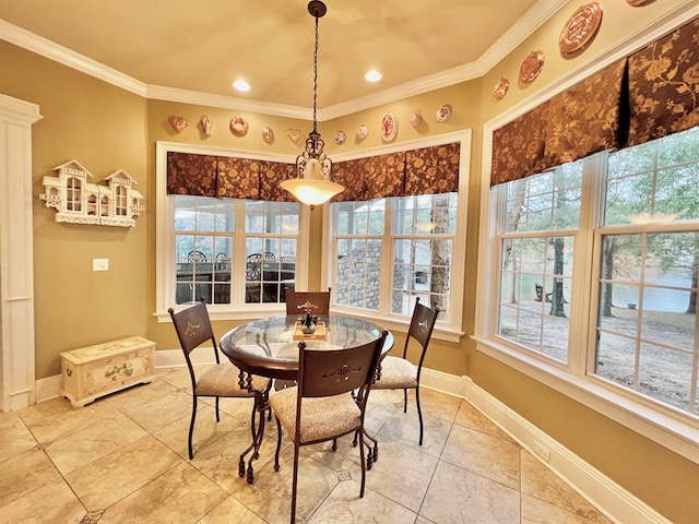
[[[280,469],[282,428],[294,443],[294,477],[292,484],[292,524],[296,521],[299,448],[344,434],[364,433],[364,414],[376,377],[381,347],[388,332],[369,344],[343,349],[308,349],[298,343],[298,386],[270,396],[276,417],[277,440],[274,471]],[[355,395],[353,395],[353,391]],[[358,394],[356,394],[358,392]],[[333,445],[333,451],[335,446]],[[359,445],[364,497],[366,467],[364,445]]]

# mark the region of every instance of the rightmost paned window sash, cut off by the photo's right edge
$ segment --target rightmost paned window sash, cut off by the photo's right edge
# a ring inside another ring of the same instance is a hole
[[[594,373],[699,415],[699,128],[611,155]]]

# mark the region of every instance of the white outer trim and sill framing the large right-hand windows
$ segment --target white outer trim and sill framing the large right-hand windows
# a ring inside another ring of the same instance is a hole
[[[499,264],[497,242],[497,202],[496,192],[490,191],[490,159],[493,158],[493,132],[512,121],[514,118],[530,111],[546,99],[585,78],[602,70],[615,60],[619,60],[648,43],[674,31],[687,21],[699,15],[699,5],[690,7],[687,2],[671,11],[666,16],[649,23],[647,27],[635,35],[621,40],[617,46],[607,49],[583,67],[561,76],[549,84],[545,92],[538,92],[530,99],[516,105],[510,110],[488,121],[483,130],[483,166],[481,182],[481,219],[478,238],[478,277],[476,287],[474,335],[476,349],[499,360],[500,362],[531,377],[532,379],[554,389],[555,391],[583,404],[584,406],[637,431],[654,442],[674,451],[685,458],[699,464],[699,425],[682,415],[673,416],[668,412],[661,412],[652,403],[643,402],[632,395],[625,395],[623,391],[608,388],[604,381],[584,374],[584,355],[578,361],[571,361],[570,367],[557,366],[545,358],[530,352],[517,348],[513,344],[499,338],[495,333],[497,319],[497,272],[488,271]],[[582,212],[582,210],[581,210]],[[578,246],[576,249],[591,249],[591,246]],[[592,254],[588,253],[589,257]],[[583,285],[592,285],[591,276],[583,278]],[[590,310],[590,294],[585,295],[577,305]],[[572,305],[571,305],[572,307]],[[589,347],[589,334],[571,331],[571,340],[577,337]]]

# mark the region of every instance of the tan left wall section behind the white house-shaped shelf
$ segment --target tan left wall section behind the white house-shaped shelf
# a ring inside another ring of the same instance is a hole
[[[134,228],[59,224],[38,195],[52,168],[79,160],[98,182],[117,169],[151,202],[143,98],[0,41],[0,92],[39,105],[34,124],[36,378],[60,374],[60,352],[144,335],[146,209]],[[92,259],[109,259],[93,272]]]

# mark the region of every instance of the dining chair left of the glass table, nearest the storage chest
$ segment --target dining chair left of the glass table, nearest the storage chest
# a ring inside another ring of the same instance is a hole
[[[194,453],[192,451],[192,433],[194,432],[194,420],[197,418],[197,400],[200,396],[212,396],[216,398],[216,421],[218,422],[221,421],[218,400],[222,396],[252,400],[256,397],[256,393],[248,391],[247,388],[240,388],[240,370],[236,366],[229,361],[221,362],[218,356],[218,344],[216,343],[216,337],[214,336],[214,332],[211,326],[209,311],[206,310],[206,302],[203,299],[196,306],[182,311],[175,312],[173,308],[169,308],[167,311],[170,313],[175,331],[177,332],[177,337],[179,338],[182,352],[185,352],[185,360],[187,361],[187,368],[189,369],[189,377],[192,383],[192,417],[189,422],[189,437],[187,440],[189,458],[192,460],[194,457]],[[213,346],[216,364],[206,369],[203,373],[197,376],[190,355],[196,348],[208,342]],[[270,390],[270,379],[257,376],[252,377],[252,389],[259,392],[257,395],[266,394]],[[259,402],[253,403],[250,415],[253,441],[256,431],[254,416],[256,412],[258,412],[257,408],[259,407],[257,404],[259,404]],[[252,446],[240,455],[241,460],[251,449]]]

